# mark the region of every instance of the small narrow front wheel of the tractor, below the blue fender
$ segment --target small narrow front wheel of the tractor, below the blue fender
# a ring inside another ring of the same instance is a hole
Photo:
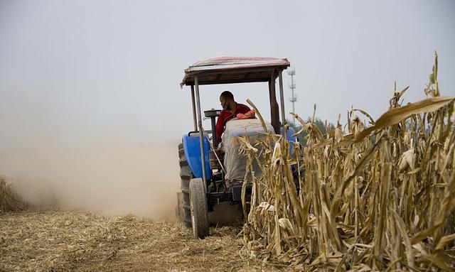
[[[190,181],[190,207],[194,237],[203,239],[208,236],[208,211],[207,195],[202,178],[193,178]]]

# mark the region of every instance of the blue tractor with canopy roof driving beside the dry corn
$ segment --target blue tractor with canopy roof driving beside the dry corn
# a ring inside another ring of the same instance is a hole
[[[196,62],[185,70],[181,87],[191,87],[193,107],[193,131],[183,135],[178,145],[181,192],[178,193],[178,217],[186,227],[193,228],[196,238],[203,239],[209,234],[208,212],[216,209],[220,202],[231,205],[241,203],[242,181],[245,177],[245,158],[235,146],[235,137],[249,134],[249,137],[264,131],[258,120],[235,120],[226,123],[223,134],[224,154],[217,152],[215,119],[221,110],[204,111],[205,118],[211,119],[211,130],[204,130],[200,109],[200,85],[220,85],[245,82],[267,82],[271,120],[269,131],[280,134],[285,124],[282,71],[289,67],[285,58],[210,58]],[[280,105],[277,103],[276,80],[279,79]],[[281,109],[281,111],[280,111]],[[281,123],[280,123],[281,113]],[[294,130],[288,131],[289,140]],[[262,134],[263,135],[263,134]],[[245,192],[248,198],[251,187]],[[247,200],[248,201],[248,200]]]

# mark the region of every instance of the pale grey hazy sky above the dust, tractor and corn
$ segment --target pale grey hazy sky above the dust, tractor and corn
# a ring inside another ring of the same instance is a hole
[[[351,105],[378,118],[394,80],[405,102],[424,98],[434,50],[455,95],[454,14],[455,1],[1,0],[0,145],[178,139],[193,129],[183,69],[220,55],[288,58],[301,116],[316,103],[329,121]],[[269,119],[266,83],[203,86],[203,109],[223,89]]]

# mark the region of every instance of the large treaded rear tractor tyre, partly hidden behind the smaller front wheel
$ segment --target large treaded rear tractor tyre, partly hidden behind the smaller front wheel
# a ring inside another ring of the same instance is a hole
[[[180,182],[181,182],[181,220],[185,227],[191,227],[191,211],[190,211],[190,180],[193,178],[193,173],[188,166],[188,161],[185,158],[185,150],[183,143],[178,145],[178,164],[180,165]]]

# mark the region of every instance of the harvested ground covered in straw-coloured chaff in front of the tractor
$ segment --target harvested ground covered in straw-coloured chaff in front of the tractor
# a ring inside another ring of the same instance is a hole
[[[82,211],[0,213],[0,271],[277,271],[242,258],[241,227],[193,239],[181,224]]]

